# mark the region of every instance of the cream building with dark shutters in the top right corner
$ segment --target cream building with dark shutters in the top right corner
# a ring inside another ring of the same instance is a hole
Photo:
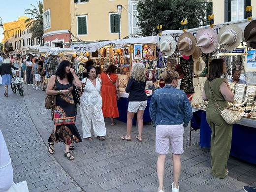
[[[256,0],[211,0],[215,24],[245,19],[245,7],[253,6],[256,17]]]

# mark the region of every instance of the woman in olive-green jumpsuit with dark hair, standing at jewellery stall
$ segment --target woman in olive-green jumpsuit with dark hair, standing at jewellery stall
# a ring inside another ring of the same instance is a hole
[[[230,153],[232,139],[232,125],[228,125],[224,121],[215,102],[216,99],[222,111],[227,106],[227,101],[232,102],[234,100],[233,93],[229,88],[227,80],[221,78],[225,72],[226,65],[223,59],[212,60],[209,77],[204,84],[203,90],[203,99],[209,101],[206,110],[206,120],[212,129],[212,174],[217,178],[224,178],[228,174],[226,164]]]

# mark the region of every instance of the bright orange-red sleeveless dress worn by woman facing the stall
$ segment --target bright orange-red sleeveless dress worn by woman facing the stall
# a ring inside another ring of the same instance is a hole
[[[110,79],[115,83],[118,76],[117,74],[110,74]],[[105,73],[101,73],[102,79],[102,112],[104,117],[117,118],[119,112],[117,108],[117,94],[116,86],[111,83],[108,76]]]

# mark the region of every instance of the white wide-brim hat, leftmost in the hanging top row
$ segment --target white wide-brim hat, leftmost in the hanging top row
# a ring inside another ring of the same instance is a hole
[[[176,43],[171,35],[162,35],[159,44],[160,51],[164,52],[165,55],[171,56],[175,52]]]

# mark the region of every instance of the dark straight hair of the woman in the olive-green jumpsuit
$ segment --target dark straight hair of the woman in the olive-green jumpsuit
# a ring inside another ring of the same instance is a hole
[[[207,80],[214,80],[216,78],[220,78],[223,74],[223,59],[213,59],[210,63],[210,71],[209,71],[209,77]]]

